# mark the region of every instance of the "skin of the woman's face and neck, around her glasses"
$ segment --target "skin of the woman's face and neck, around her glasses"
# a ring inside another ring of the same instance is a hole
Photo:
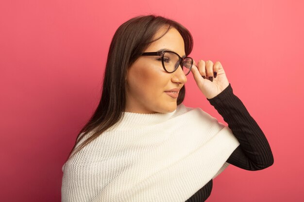
[[[166,29],[160,29],[154,39],[161,36]],[[185,45],[181,34],[171,28],[163,37],[150,44],[144,52],[156,52],[167,48],[185,56]],[[168,73],[164,70],[160,56],[140,56],[127,72],[127,112],[167,113],[177,107],[177,98],[165,91],[181,89],[187,78],[181,68]]]

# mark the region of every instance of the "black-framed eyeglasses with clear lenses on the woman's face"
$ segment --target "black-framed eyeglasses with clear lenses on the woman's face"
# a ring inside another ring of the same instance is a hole
[[[172,73],[177,70],[180,65],[185,75],[188,75],[191,71],[193,59],[190,57],[182,58],[176,52],[164,50],[158,52],[144,52],[141,55],[144,56],[161,56],[158,61],[162,61],[163,68],[166,72]]]

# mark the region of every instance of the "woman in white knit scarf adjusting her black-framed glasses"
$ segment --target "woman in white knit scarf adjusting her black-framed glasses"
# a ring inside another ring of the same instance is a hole
[[[273,164],[220,62],[191,57],[178,22],[137,16],[112,39],[99,106],[63,166],[62,202],[202,202],[229,164]],[[228,123],[183,104],[187,75]]]

